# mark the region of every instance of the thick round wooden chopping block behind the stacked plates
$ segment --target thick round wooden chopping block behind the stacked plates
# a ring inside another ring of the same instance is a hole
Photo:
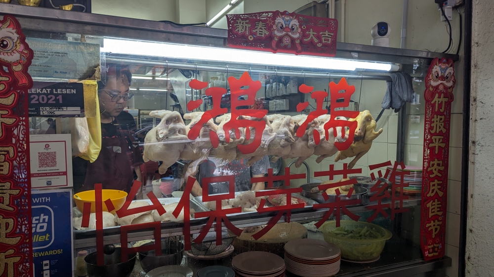
[[[277,223],[259,240],[254,240],[252,236],[261,229],[262,228],[258,227],[255,232],[252,233],[247,233],[244,230],[232,243],[235,250],[239,253],[247,251],[265,251],[283,258],[285,257],[285,243],[293,239],[307,238],[307,228],[298,222]],[[233,233],[230,235],[233,235]]]

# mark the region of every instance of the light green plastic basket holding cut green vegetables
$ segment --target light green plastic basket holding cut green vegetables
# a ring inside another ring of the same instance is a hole
[[[376,232],[383,237],[373,240],[353,240],[338,237],[330,233],[336,228],[336,221],[325,222],[319,230],[323,232],[326,242],[338,245],[341,250],[341,258],[353,261],[367,261],[377,258],[384,248],[387,240],[391,239],[391,232],[381,226],[363,221],[340,220],[340,227],[344,226],[347,230],[357,228],[375,228]]]

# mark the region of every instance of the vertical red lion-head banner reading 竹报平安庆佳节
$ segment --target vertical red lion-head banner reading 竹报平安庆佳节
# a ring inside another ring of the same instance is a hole
[[[448,157],[453,60],[435,58],[425,77],[424,160],[420,246],[425,260],[441,258],[446,244]]]

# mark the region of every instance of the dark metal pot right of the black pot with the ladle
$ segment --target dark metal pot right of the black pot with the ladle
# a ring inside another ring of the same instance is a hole
[[[154,242],[148,242],[144,245],[151,245]],[[156,256],[155,250],[139,252],[139,260],[142,270],[146,273],[162,266],[180,265],[182,263],[183,250],[185,246],[182,242],[162,240],[162,255]]]

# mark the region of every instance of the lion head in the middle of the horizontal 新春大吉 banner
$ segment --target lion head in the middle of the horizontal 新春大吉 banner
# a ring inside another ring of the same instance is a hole
[[[280,12],[275,18],[275,23],[272,30],[273,40],[271,41],[271,48],[278,50],[276,45],[281,38],[281,46],[291,47],[292,40],[294,41],[297,53],[302,52],[302,46],[300,46],[300,39],[302,38],[302,30],[300,29],[300,23],[298,22],[296,13],[288,13],[282,15]]]

